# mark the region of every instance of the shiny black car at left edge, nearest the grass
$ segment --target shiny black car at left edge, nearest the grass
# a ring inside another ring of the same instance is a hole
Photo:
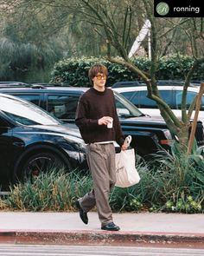
[[[51,167],[86,167],[85,142],[73,125],[12,95],[0,94],[0,186]]]

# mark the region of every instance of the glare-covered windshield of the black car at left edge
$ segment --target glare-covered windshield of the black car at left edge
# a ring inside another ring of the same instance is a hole
[[[61,123],[45,110],[12,96],[0,95],[0,110],[13,121],[24,125],[56,125]]]

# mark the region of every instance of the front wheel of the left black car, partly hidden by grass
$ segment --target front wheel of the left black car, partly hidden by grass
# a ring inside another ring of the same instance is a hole
[[[22,167],[17,174],[19,181],[34,181],[41,173],[49,171],[59,171],[69,169],[67,164],[53,152],[43,151],[41,153],[29,154],[29,157],[23,162]]]

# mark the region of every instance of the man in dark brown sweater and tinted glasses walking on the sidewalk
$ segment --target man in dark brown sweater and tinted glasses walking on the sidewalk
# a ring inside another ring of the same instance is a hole
[[[101,229],[118,231],[112,220],[109,195],[116,182],[115,148],[117,141],[125,150],[124,135],[118,120],[112,89],[105,88],[108,71],[96,64],[89,69],[92,88],[81,95],[76,112],[76,125],[87,143],[86,159],[92,174],[93,189],[76,201],[81,220],[87,224],[87,213],[97,207]]]

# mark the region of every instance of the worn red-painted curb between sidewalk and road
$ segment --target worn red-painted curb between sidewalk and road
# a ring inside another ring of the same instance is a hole
[[[139,233],[107,231],[0,231],[0,244],[86,246],[169,245],[204,248],[204,233]]]

